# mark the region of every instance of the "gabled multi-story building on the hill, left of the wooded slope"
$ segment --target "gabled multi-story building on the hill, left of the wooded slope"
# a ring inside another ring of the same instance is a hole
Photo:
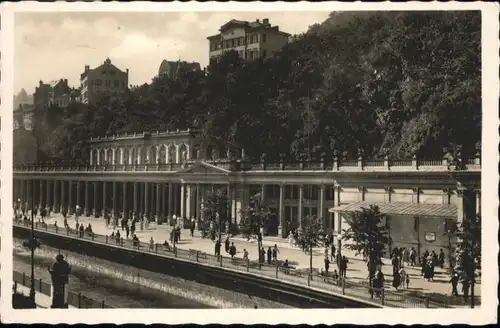
[[[128,87],[128,68],[122,71],[107,58],[101,66],[94,69],[85,65],[80,82],[81,102],[92,104],[102,95],[124,92]]]

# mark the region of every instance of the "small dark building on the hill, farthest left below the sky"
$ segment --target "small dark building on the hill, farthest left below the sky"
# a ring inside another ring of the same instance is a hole
[[[40,80],[33,95],[34,105],[36,108],[48,108],[53,105],[66,108],[71,102],[70,91],[68,79],[55,80],[49,83]]]

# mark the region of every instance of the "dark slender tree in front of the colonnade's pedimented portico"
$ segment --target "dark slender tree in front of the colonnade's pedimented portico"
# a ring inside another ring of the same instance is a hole
[[[210,222],[213,231],[218,234],[219,241],[223,228],[229,222],[228,205],[229,199],[223,189],[208,191],[203,200],[203,216]]]

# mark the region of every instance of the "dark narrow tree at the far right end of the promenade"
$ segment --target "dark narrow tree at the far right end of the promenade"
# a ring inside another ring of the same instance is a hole
[[[458,270],[471,286],[471,307],[474,307],[476,268],[481,264],[481,215],[462,220],[457,231]]]

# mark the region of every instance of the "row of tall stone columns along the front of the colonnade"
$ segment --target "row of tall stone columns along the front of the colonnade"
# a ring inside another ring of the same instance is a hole
[[[218,186],[219,188],[221,185]],[[227,184],[229,200],[228,216],[237,223],[241,210],[248,205],[248,186]],[[66,181],[66,180],[14,180],[14,197],[31,209],[50,208],[54,212],[75,213],[87,216],[102,216],[106,213],[129,218],[131,213],[146,215],[161,223],[166,218],[177,216],[200,219],[203,199],[207,190],[214,185],[153,183],[153,182],[106,182],[106,181]],[[318,216],[324,216],[325,186],[320,186],[317,200]],[[336,191],[334,206],[338,206],[339,189]],[[299,186],[297,204],[298,225],[304,213],[304,186]],[[261,197],[266,199],[265,185],[261,186]],[[285,222],[285,185],[280,185],[277,204],[278,235],[282,235]],[[340,227],[340,216],[335,214],[335,226]],[[337,223],[338,221],[338,223]]]

